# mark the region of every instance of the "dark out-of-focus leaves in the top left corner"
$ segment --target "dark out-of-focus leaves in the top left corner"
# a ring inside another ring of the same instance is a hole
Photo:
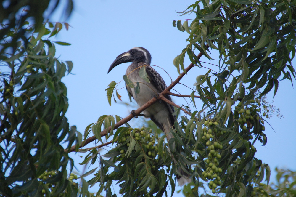
[[[70,16],[73,10],[72,0],[44,0],[44,1],[3,1],[0,6],[0,41],[2,54],[7,48],[12,47],[16,50],[17,42],[22,40],[24,47],[27,46],[29,40],[27,37],[26,21],[34,24],[33,31],[39,32],[42,29],[43,23],[57,9],[59,5],[64,5],[64,16]],[[33,32],[32,31],[32,32]],[[7,35],[14,34],[12,39],[6,39]],[[5,41],[4,41],[5,40]]]

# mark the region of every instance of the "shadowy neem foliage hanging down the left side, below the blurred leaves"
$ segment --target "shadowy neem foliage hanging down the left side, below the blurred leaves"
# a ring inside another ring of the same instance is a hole
[[[77,195],[78,184],[68,175],[73,160],[62,147],[76,136],[65,117],[67,88],[61,82],[73,63],[54,57],[54,44],[68,44],[50,40],[62,27],[46,23],[34,31],[24,22],[26,41],[18,39],[16,48],[7,47],[0,56],[1,196]],[[6,47],[17,31],[10,29],[0,45]]]

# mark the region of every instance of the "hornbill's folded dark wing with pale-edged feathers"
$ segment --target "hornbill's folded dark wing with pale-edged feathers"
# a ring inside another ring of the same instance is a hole
[[[139,66],[144,66],[144,65],[147,65],[147,64],[144,63],[144,62],[139,63]],[[165,81],[163,80],[163,78],[160,76],[160,74],[157,73],[157,71],[155,71],[149,65],[145,66],[145,68],[146,68],[146,73],[148,75],[150,83],[157,89],[158,93],[165,90],[167,88],[167,86],[166,86]],[[165,95],[165,98],[172,101],[170,95]],[[176,121],[176,116],[172,115],[172,113],[174,112],[174,107],[173,107],[173,105],[170,105],[168,103],[166,103],[166,104],[167,104],[168,110],[170,112],[170,123],[173,126],[174,122]]]

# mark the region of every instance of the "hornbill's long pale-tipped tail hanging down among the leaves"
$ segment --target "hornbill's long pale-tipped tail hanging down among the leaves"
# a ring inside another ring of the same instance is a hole
[[[168,121],[168,124],[163,125],[163,130],[164,130],[164,132],[166,134],[166,138],[167,138],[168,142],[173,137],[173,134],[170,133],[170,128],[172,128],[172,126],[170,125],[169,121]],[[170,149],[169,149],[169,151],[170,151]],[[170,154],[172,155],[172,152],[171,151],[170,151]],[[172,155],[172,158],[173,158],[174,165],[176,165],[177,164],[177,161],[173,157],[173,155]],[[188,167],[188,166],[186,165],[186,167]],[[180,186],[182,186],[182,185],[184,185],[186,183],[190,183],[191,182],[191,176],[190,176],[190,174],[188,174],[187,172],[185,172],[181,168],[178,168],[177,171],[178,171],[178,174],[176,175],[176,177],[177,177],[178,184]]]

